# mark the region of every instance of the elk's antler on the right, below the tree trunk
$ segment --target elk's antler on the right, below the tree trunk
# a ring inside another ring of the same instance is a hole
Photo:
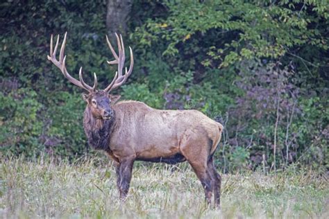
[[[113,49],[113,47],[110,43],[110,40],[108,40],[108,36],[106,35],[106,41],[108,42],[108,46],[110,47],[110,50],[112,51],[112,54],[115,57],[115,60],[108,61],[108,64],[117,64],[118,65],[118,70],[115,73],[115,78],[113,78],[110,85],[108,85],[108,87],[106,87],[106,89],[104,89],[104,91],[106,91],[106,92],[110,92],[110,91],[116,89],[117,87],[120,87],[121,85],[123,85],[124,82],[126,82],[127,78],[130,76],[131,72],[133,71],[133,66],[134,66],[133,51],[129,46],[129,50],[130,50],[130,67],[129,67],[129,71],[127,71],[127,68],[125,68],[126,72],[125,72],[124,76],[122,76],[122,69],[124,68],[124,61],[126,60],[126,55],[124,53],[124,41],[122,40],[121,35],[119,37],[117,35],[117,33],[115,33],[115,36],[117,37],[119,56],[117,55],[117,53]]]

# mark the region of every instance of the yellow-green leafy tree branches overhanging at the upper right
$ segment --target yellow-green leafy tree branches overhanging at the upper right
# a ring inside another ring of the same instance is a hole
[[[169,41],[163,55],[177,55],[178,44],[194,44],[198,42],[194,37],[206,41],[213,36],[217,39],[209,46],[205,42],[202,49],[208,49],[209,55],[204,63],[214,62],[212,65],[219,67],[244,59],[280,58],[291,53],[294,46],[328,49],[328,38],[321,35],[323,30],[317,26],[328,25],[326,1],[179,1],[166,5],[168,17],[149,19],[143,28],[137,29],[145,46],[152,46],[150,41]]]

